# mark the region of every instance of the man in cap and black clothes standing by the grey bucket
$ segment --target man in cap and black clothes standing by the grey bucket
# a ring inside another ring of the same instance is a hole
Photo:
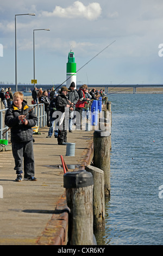
[[[61,113],[61,118],[59,120],[59,127],[58,127],[58,145],[65,145],[67,142],[67,127],[65,124],[65,109],[68,108],[68,119],[69,119],[69,108],[70,102],[67,99],[67,93],[70,90],[67,87],[63,86],[61,88],[60,94],[56,97],[56,108],[57,112]],[[67,114],[67,111],[66,111]]]

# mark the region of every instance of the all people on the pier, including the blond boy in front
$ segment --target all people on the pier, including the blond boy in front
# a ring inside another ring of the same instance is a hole
[[[54,137],[58,139],[59,145],[65,145],[67,142],[67,130],[72,132],[74,119],[77,129],[81,129],[82,113],[90,108],[91,100],[98,100],[100,96],[104,100],[105,97],[102,90],[93,88],[90,91],[86,84],[83,84],[79,90],[75,88],[72,82],[70,88],[63,86],[58,92],[54,88],[43,91],[41,88],[39,90],[34,88],[32,92],[34,104],[45,104],[47,126],[49,126],[47,138],[51,138],[54,131]],[[17,174],[15,181],[22,181],[23,168],[24,180],[36,181],[32,127],[36,125],[37,117],[34,107],[28,106],[23,100],[23,93],[15,92],[13,95],[10,87],[7,92],[2,88],[0,97],[4,106],[8,108],[5,113],[5,125],[11,129],[12,155]]]

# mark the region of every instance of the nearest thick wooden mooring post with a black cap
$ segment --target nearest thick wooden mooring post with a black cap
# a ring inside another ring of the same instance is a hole
[[[64,174],[67,205],[70,208],[70,245],[96,245],[93,235],[93,177],[86,170]]]

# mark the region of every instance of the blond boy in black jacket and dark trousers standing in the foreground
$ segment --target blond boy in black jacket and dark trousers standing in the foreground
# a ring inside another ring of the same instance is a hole
[[[12,154],[15,159],[17,178],[22,181],[24,166],[24,179],[35,181],[34,177],[34,152],[33,152],[33,130],[37,117],[34,109],[23,101],[21,92],[14,93],[14,101],[5,114],[5,125],[11,127]],[[23,164],[24,159],[24,164]]]

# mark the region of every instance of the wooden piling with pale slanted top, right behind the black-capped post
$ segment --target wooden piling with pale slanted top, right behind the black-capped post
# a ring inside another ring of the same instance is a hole
[[[105,229],[104,172],[95,166],[85,166],[93,176],[93,230]]]

